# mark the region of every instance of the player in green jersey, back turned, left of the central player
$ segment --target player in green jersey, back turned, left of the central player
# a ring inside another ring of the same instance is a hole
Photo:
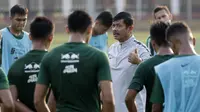
[[[32,50],[14,62],[8,79],[17,112],[36,111],[34,90],[40,63],[53,39],[54,24],[46,17],[36,17],[30,24]]]

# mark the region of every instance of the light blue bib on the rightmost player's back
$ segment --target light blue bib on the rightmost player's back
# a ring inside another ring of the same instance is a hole
[[[164,112],[199,112],[200,56],[172,58],[158,65],[165,96]]]

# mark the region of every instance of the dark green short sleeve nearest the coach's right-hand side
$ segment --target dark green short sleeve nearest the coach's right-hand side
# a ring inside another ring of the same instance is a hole
[[[143,62],[144,63],[144,62]],[[129,89],[134,89],[137,92],[140,92],[145,84],[145,74],[148,73],[148,69],[144,68],[145,66],[143,66],[144,64],[141,63],[138,68],[135,71],[135,75],[131,81],[131,84],[129,86]],[[144,70],[145,69],[145,70]]]

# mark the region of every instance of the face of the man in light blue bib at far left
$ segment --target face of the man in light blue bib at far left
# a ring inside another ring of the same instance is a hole
[[[11,21],[14,30],[22,31],[27,23],[27,15],[15,14],[15,16],[11,17]]]

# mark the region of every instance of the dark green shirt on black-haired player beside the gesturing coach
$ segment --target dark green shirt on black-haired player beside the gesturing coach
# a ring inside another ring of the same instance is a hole
[[[172,58],[173,55],[156,55],[141,63],[132,79],[129,89],[140,92],[145,86],[147,90],[146,112],[151,112],[152,103],[150,102],[152,87],[154,84],[155,71],[154,66]]]

